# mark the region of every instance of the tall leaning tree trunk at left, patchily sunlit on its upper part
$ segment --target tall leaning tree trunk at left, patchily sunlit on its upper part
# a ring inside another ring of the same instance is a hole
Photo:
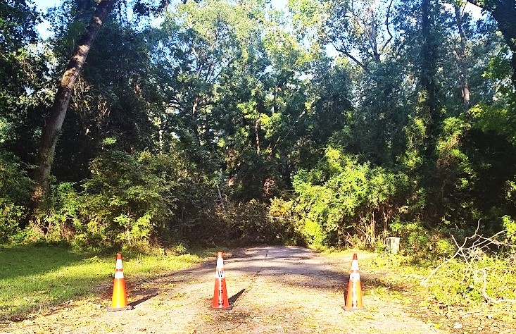
[[[73,86],[80,75],[84,61],[92,48],[93,40],[99,32],[101,25],[106,20],[108,14],[113,8],[116,0],[101,0],[96,6],[96,10],[90,20],[86,32],[80,37],[75,47],[75,51],[68,62],[61,85],[59,85],[54,103],[51,106],[49,118],[42,130],[41,142],[39,144],[39,152],[37,155],[37,169],[34,173],[34,181],[36,187],[32,194],[34,207],[38,209],[45,201],[49,192],[49,175],[54,159],[54,151],[58,140],[63,120],[65,119],[66,110],[72,97]]]

